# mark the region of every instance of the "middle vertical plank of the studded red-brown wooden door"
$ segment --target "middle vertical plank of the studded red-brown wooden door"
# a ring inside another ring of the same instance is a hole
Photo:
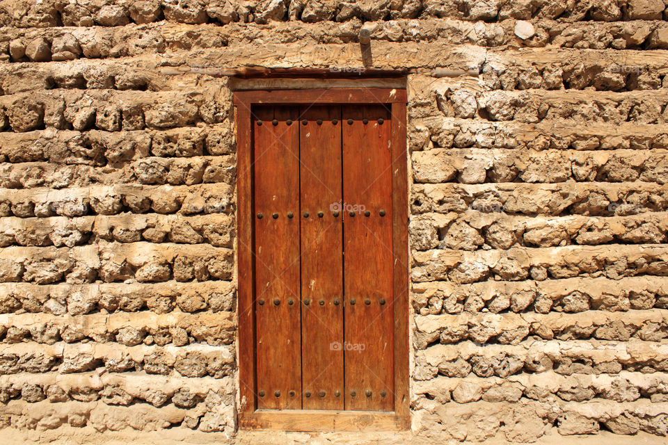
[[[304,107],[300,121],[303,408],[343,410],[341,107]]]

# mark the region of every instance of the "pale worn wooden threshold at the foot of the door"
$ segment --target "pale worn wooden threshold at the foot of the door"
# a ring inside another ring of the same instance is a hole
[[[393,411],[255,410],[239,412],[242,430],[301,432],[399,431],[408,429],[408,417]]]

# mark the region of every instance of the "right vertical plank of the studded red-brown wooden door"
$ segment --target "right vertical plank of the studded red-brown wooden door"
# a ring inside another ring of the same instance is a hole
[[[342,118],[346,409],[392,411],[392,122],[379,105]]]

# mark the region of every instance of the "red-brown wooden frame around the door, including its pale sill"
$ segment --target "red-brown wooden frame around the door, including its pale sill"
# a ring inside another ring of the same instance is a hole
[[[248,90],[233,94],[237,138],[237,294],[239,330],[239,428],[287,431],[405,430],[408,395],[408,156],[406,90],[330,88]],[[251,108],[260,104],[387,104],[392,130],[392,291],[394,298],[395,410],[257,410],[253,312],[253,135]]]

